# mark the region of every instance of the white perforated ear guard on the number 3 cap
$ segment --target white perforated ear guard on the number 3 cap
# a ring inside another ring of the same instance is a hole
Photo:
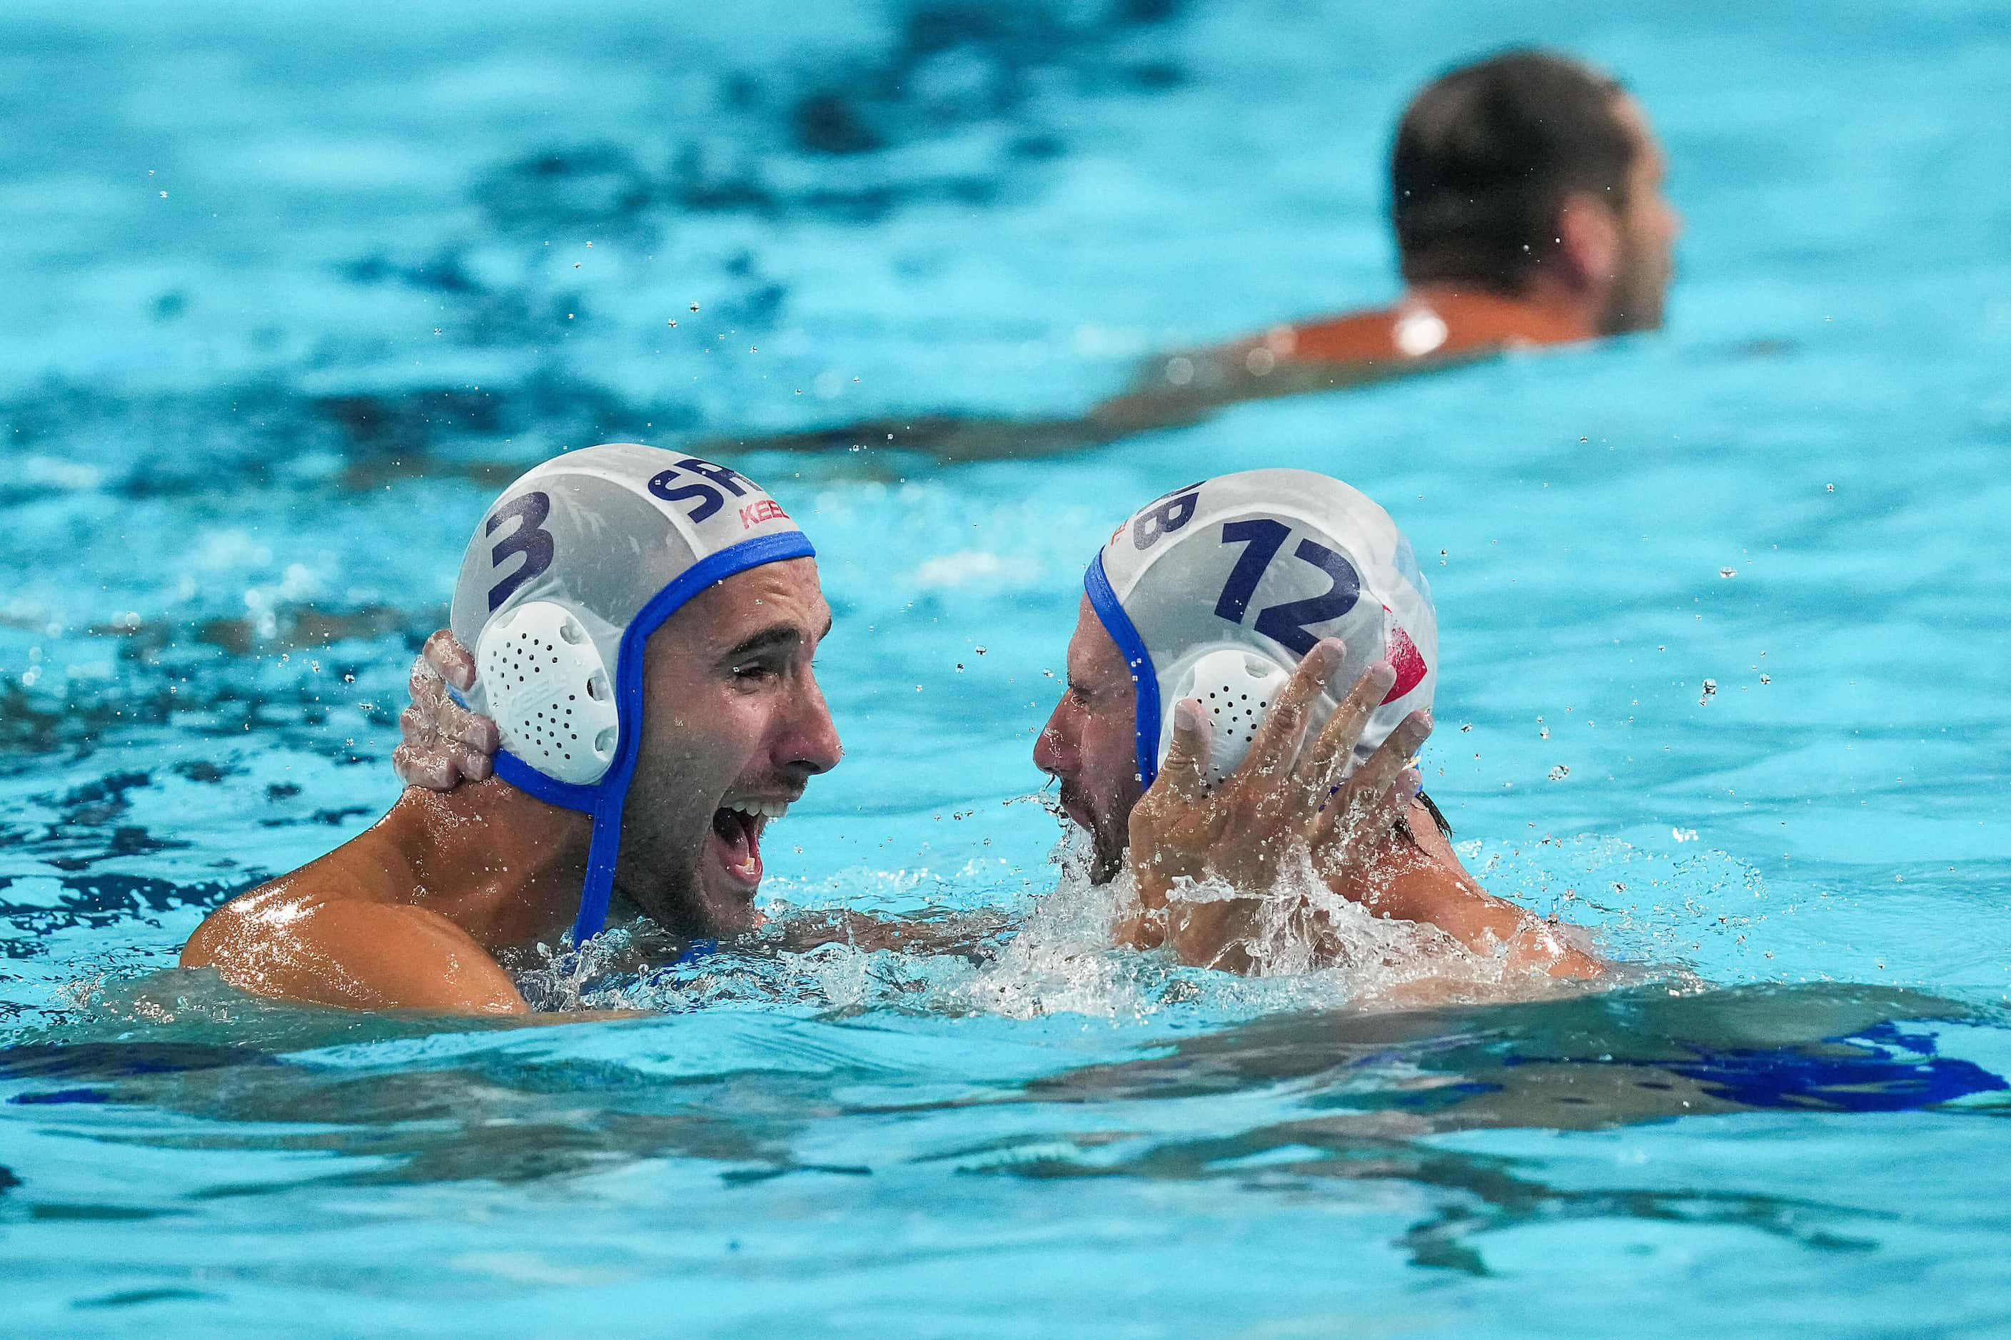
[[[475,667],[505,749],[559,781],[601,779],[619,737],[615,691],[569,609],[525,601],[491,619]]]

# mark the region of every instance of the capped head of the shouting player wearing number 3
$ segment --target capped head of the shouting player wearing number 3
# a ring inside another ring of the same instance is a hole
[[[768,818],[839,761],[812,554],[746,476],[633,444],[549,460],[483,516],[454,637],[497,775],[593,816],[575,940],[615,888],[678,930],[754,924]]]

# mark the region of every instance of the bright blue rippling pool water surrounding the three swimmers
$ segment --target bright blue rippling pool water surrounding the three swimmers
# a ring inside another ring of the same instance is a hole
[[[16,0],[0,34],[10,1334],[2011,1328],[2001,6]],[[404,669],[511,472],[1070,412],[1388,299],[1396,108],[1520,40],[1663,133],[1667,331],[1032,464],[734,460],[839,611],[849,759],[766,896],[989,914],[969,956],[533,962],[662,1013],[521,1031],[163,976],[394,800]],[[1096,952],[1094,894],[1050,896],[1028,755],[1082,563],[1259,464],[1410,532],[1428,788],[1633,984],[1363,1013],[1347,972]]]

